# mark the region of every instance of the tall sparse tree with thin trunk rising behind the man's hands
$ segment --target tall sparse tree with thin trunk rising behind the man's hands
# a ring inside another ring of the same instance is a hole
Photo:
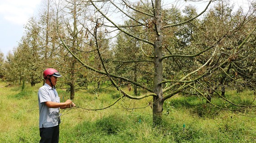
[[[55,22],[62,40],[65,40],[68,49],[79,58],[88,58],[88,55],[79,54],[79,52],[85,53],[84,51],[90,47],[87,43],[88,30],[84,17],[87,13],[86,6],[82,4],[82,0],[63,0],[56,5],[58,7],[55,12]],[[88,81],[85,74],[81,73],[78,61],[67,50],[61,50],[59,56],[64,59],[59,63],[59,68],[66,73],[63,84],[69,86],[67,91],[70,92],[70,98],[74,99],[75,90],[80,88],[79,85],[87,85]]]

